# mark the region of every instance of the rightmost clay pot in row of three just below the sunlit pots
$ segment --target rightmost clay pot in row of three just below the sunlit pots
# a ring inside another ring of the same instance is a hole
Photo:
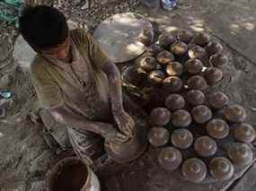
[[[228,104],[229,99],[223,92],[216,91],[209,96],[208,102],[214,109],[222,109]]]

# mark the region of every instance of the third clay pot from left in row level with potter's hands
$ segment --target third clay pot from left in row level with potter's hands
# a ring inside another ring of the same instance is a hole
[[[199,124],[204,124],[212,118],[212,111],[207,106],[199,105],[192,109],[191,114]]]

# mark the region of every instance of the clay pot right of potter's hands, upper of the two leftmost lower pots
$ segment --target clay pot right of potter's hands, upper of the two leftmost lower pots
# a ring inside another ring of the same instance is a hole
[[[170,119],[171,112],[165,108],[156,108],[150,113],[150,121],[154,126],[166,126]]]

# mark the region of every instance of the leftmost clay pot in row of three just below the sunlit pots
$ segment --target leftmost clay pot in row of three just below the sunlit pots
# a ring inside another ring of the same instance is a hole
[[[165,106],[167,109],[172,111],[183,109],[185,107],[186,101],[179,94],[171,94],[165,100]]]

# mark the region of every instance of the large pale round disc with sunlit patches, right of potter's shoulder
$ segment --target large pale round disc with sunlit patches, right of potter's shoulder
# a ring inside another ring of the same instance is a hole
[[[93,34],[114,63],[136,58],[146,50],[139,41],[143,30],[152,31],[152,24],[137,13],[118,13],[103,21]]]

